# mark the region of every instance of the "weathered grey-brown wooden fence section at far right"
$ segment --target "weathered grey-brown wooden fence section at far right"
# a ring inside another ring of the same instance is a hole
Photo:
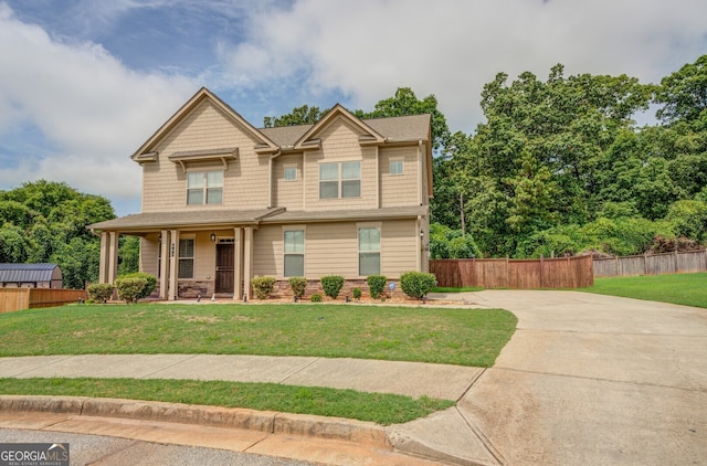
[[[594,276],[661,275],[707,272],[707,252],[664,253],[594,260]]]

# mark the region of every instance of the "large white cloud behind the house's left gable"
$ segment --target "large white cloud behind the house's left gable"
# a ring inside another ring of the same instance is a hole
[[[44,178],[138,199],[139,168],[128,157],[198,88],[186,77],[131,72],[94,43],[57,42],[4,4],[0,63],[0,135],[36,127],[52,153],[18,153],[17,168],[0,174],[9,187]]]

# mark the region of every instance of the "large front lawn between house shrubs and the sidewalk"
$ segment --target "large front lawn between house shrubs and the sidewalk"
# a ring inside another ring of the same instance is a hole
[[[490,367],[506,310],[360,305],[71,305],[0,315],[0,356],[314,356]]]

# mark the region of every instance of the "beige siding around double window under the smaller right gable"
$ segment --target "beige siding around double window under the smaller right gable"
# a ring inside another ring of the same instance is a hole
[[[321,149],[306,151],[305,210],[345,210],[377,208],[374,147],[361,147],[360,130],[344,118],[329,124],[320,135]],[[361,162],[361,197],[348,199],[319,199],[319,165],[326,162]]]

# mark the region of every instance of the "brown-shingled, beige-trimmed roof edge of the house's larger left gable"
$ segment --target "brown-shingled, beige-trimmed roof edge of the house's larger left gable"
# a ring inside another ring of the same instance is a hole
[[[172,115],[160,128],[155,131],[152,136],[148,140],[140,146],[139,149],[130,156],[134,161],[145,161],[154,158],[154,148],[157,144],[166,137],[169,133],[177,127],[177,125],[189,115],[198,105],[202,102],[209,100],[219,109],[221,109],[225,115],[229,116],[236,125],[245,130],[249,135],[251,135],[255,140],[258,141],[258,146],[265,148],[266,150],[275,151],[277,150],[277,145],[270,140],[267,136],[263,133],[258,131],[253,125],[247,123],[238,112],[231,108],[225,102],[221,100],[215,94],[209,91],[205,87],[200,88],[197,94],[194,94],[184,105],[179,108],[175,115]]]

